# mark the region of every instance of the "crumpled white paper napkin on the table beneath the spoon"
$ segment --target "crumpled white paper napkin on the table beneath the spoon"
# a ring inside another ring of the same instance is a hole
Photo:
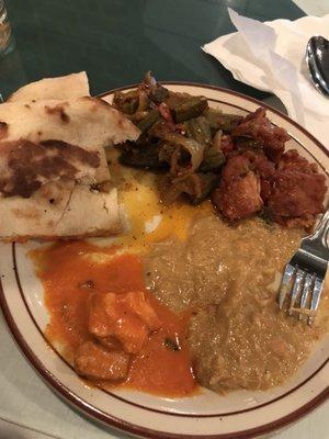
[[[261,23],[228,9],[238,32],[203,46],[235,79],[274,93],[288,115],[329,148],[329,98],[309,79],[304,59],[313,35],[329,38],[329,14]]]

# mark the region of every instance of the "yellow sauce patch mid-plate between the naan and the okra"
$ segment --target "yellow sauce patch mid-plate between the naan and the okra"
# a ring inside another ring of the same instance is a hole
[[[125,233],[115,240],[116,245],[146,254],[150,244],[169,236],[185,240],[193,218],[213,212],[209,200],[196,207],[183,203],[166,206],[156,190],[154,173],[118,167],[115,151],[112,155],[110,169],[120,189],[120,204],[124,206],[127,222]]]

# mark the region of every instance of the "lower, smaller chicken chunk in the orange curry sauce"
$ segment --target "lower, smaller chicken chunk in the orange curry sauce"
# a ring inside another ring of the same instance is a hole
[[[75,369],[90,380],[124,380],[131,357],[123,351],[109,351],[93,341],[86,341],[76,352]]]

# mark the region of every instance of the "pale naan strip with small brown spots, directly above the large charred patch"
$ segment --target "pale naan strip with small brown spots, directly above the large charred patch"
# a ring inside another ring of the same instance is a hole
[[[0,124],[0,140],[56,138],[87,149],[135,140],[139,135],[124,114],[102,99],[90,97],[2,103]]]

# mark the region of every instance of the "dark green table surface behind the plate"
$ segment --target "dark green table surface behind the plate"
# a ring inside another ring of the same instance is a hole
[[[227,87],[266,98],[236,81],[201,49],[234,32],[227,7],[257,20],[304,15],[291,0],[5,0],[16,46],[0,58],[0,92],[49,76],[87,70],[93,94],[160,80]]]

